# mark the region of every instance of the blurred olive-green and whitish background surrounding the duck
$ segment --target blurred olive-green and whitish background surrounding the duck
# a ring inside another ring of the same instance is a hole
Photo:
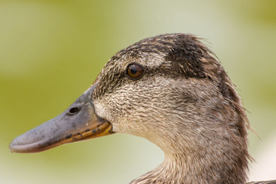
[[[128,183],[159,165],[159,147],[123,134],[37,154],[8,145],[63,112],[115,52],[170,32],[212,43],[261,137],[249,133],[250,179],[276,178],[275,10],[273,0],[0,0],[0,183]]]

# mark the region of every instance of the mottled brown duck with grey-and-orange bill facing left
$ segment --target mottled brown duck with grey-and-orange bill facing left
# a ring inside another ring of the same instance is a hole
[[[246,183],[253,161],[246,110],[204,41],[193,34],[160,34],[120,50],[65,112],[18,136],[11,152],[132,134],[165,154],[132,184]]]

